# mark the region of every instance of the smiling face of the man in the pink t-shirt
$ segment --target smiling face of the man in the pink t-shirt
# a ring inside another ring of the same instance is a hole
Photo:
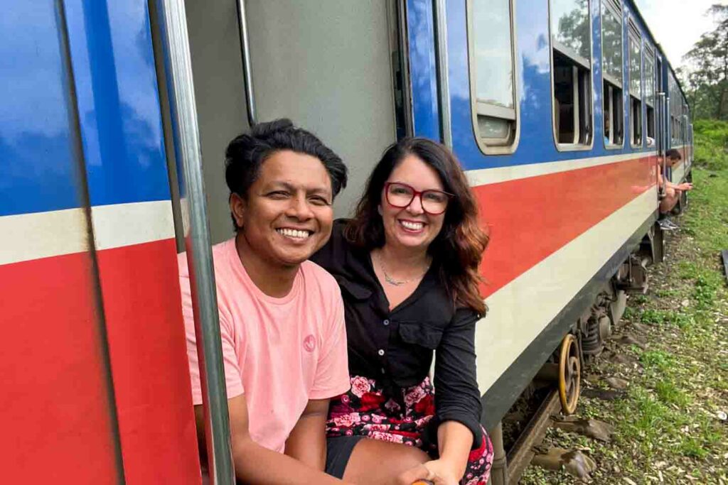
[[[248,246],[268,264],[290,267],[309,259],[331,236],[331,177],[319,159],[278,151],[263,162],[247,200],[230,206]]]

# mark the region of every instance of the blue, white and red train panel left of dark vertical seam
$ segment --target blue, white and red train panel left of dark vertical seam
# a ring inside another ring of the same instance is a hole
[[[4,4],[0,294],[7,483],[124,473],[90,253],[63,12]]]

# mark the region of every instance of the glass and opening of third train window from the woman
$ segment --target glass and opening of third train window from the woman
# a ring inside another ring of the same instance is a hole
[[[601,1],[601,61],[604,79],[604,145],[622,146],[622,2]]]

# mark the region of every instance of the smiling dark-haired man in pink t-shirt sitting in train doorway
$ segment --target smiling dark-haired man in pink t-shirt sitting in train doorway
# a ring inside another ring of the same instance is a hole
[[[307,260],[331,235],[347,169],[317,137],[278,120],[232,140],[225,177],[235,236],[213,246],[213,260],[235,474],[340,483],[323,468],[329,398],[349,389],[344,307],[334,278]],[[204,450],[186,254],[179,272]]]

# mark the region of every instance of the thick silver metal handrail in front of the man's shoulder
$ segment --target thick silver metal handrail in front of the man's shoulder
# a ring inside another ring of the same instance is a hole
[[[185,7],[183,0],[156,1],[175,156],[181,162],[183,196],[189,203],[189,233],[185,244],[205,412],[207,464],[211,483],[228,485],[235,483],[235,472]]]

